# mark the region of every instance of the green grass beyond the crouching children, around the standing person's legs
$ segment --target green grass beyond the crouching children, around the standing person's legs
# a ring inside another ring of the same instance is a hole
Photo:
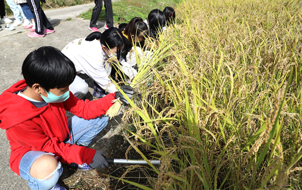
[[[164,10],[165,7],[175,7],[181,0],[165,0],[165,1],[130,1],[121,0],[112,3],[113,9],[113,20],[114,23],[128,23],[134,17],[140,17],[145,20],[150,11],[153,9]],[[92,14],[92,9],[88,12],[83,13],[80,17],[84,19],[90,19]],[[100,14],[99,20],[106,21],[105,8],[103,6],[102,12]]]

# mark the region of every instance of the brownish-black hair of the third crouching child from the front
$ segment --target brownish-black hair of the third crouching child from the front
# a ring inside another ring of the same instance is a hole
[[[131,43],[134,43],[132,39],[132,35],[137,38],[144,38],[146,37],[148,31],[148,26],[146,23],[142,21],[139,17],[134,17],[125,27],[125,34],[128,36],[128,40]]]

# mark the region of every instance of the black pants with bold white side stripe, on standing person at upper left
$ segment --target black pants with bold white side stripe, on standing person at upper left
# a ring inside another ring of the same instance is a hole
[[[43,26],[45,26],[45,28],[47,29],[53,30],[52,25],[50,24],[49,20],[47,19],[46,15],[44,14],[44,11],[40,6],[40,0],[28,0],[27,4],[28,7],[30,8],[30,11],[34,15],[34,19],[36,22],[35,32],[37,34],[42,35],[44,30]]]

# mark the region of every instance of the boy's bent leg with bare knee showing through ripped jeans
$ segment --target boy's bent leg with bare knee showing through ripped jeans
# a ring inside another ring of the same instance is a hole
[[[20,176],[29,181],[31,189],[50,189],[63,172],[61,163],[51,153],[29,151],[21,159]]]

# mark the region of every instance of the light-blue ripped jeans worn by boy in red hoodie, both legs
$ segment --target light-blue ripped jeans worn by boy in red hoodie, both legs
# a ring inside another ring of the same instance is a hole
[[[88,146],[89,143],[95,138],[108,124],[109,117],[97,117],[95,119],[85,120],[83,118],[73,116],[68,119],[68,128],[71,135],[71,142],[69,136],[65,139],[64,143],[77,144]],[[58,162],[57,168],[44,179],[36,179],[30,175],[30,168],[33,162],[44,154],[51,154],[41,151],[29,151],[21,159],[19,169],[20,176],[29,181],[28,185],[33,190],[47,190],[53,187],[60,175],[63,172],[61,163]],[[51,178],[47,179],[49,176]]]

